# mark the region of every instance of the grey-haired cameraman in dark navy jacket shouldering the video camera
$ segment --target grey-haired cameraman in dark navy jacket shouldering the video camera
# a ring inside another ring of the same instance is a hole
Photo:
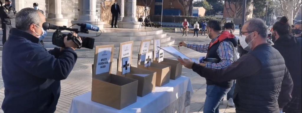
[[[16,16],[16,28],[12,28],[3,47],[2,109],[6,113],[53,113],[60,96],[60,80],[67,78],[76,63],[77,45],[67,37],[66,48],[47,51],[38,44],[44,22],[40,11],[22,9]]]

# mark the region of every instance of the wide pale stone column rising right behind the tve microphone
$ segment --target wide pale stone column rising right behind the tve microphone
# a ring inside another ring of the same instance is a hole
[[[96,24],[100,29],[104,28],[104,22],[96,15],[96,0],[79,0],[79,16],[78,20],[71,21],[71,24]],[[79,28],[79,26],[72,26],[72,28]]]

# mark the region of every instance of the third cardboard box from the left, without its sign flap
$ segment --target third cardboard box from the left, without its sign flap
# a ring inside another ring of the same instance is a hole
[[[156,86],[163,86],[166,83],[170,82],[170,74],[171,74],[171,66],[159,64],[159,63],[151,63],[149,67],[145,67],[144,65],[137,65],[138,68],[147,69],[149,71],[156,71]]]

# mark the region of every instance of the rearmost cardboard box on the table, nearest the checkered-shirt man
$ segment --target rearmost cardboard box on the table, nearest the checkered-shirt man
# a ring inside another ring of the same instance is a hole
[[[160,64],[165,64],[171,66],[171,76],[170,79],[175,80],[182,75],[182,64],[177,60],[172,60],[164,58]]]

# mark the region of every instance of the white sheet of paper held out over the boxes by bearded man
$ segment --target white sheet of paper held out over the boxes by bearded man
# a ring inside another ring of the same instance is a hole
[[[158,46],[157,46],[158,47]],[[183,53],[179,52],[177,49],[175,49],[172,46],[168,46],[168,47],[159,47],[160,49],[164,50],[165,52],[168,52],[169,54],[171,54],[172,56],[174,56],[175,58],[180,58],[180,59],[191,59],[189,57],[187,57],[186,55],[184,55]],[[196,61],[195,59],[191,59],[192,61],[194,61],[195,63],[198,63],[198,61]]]

